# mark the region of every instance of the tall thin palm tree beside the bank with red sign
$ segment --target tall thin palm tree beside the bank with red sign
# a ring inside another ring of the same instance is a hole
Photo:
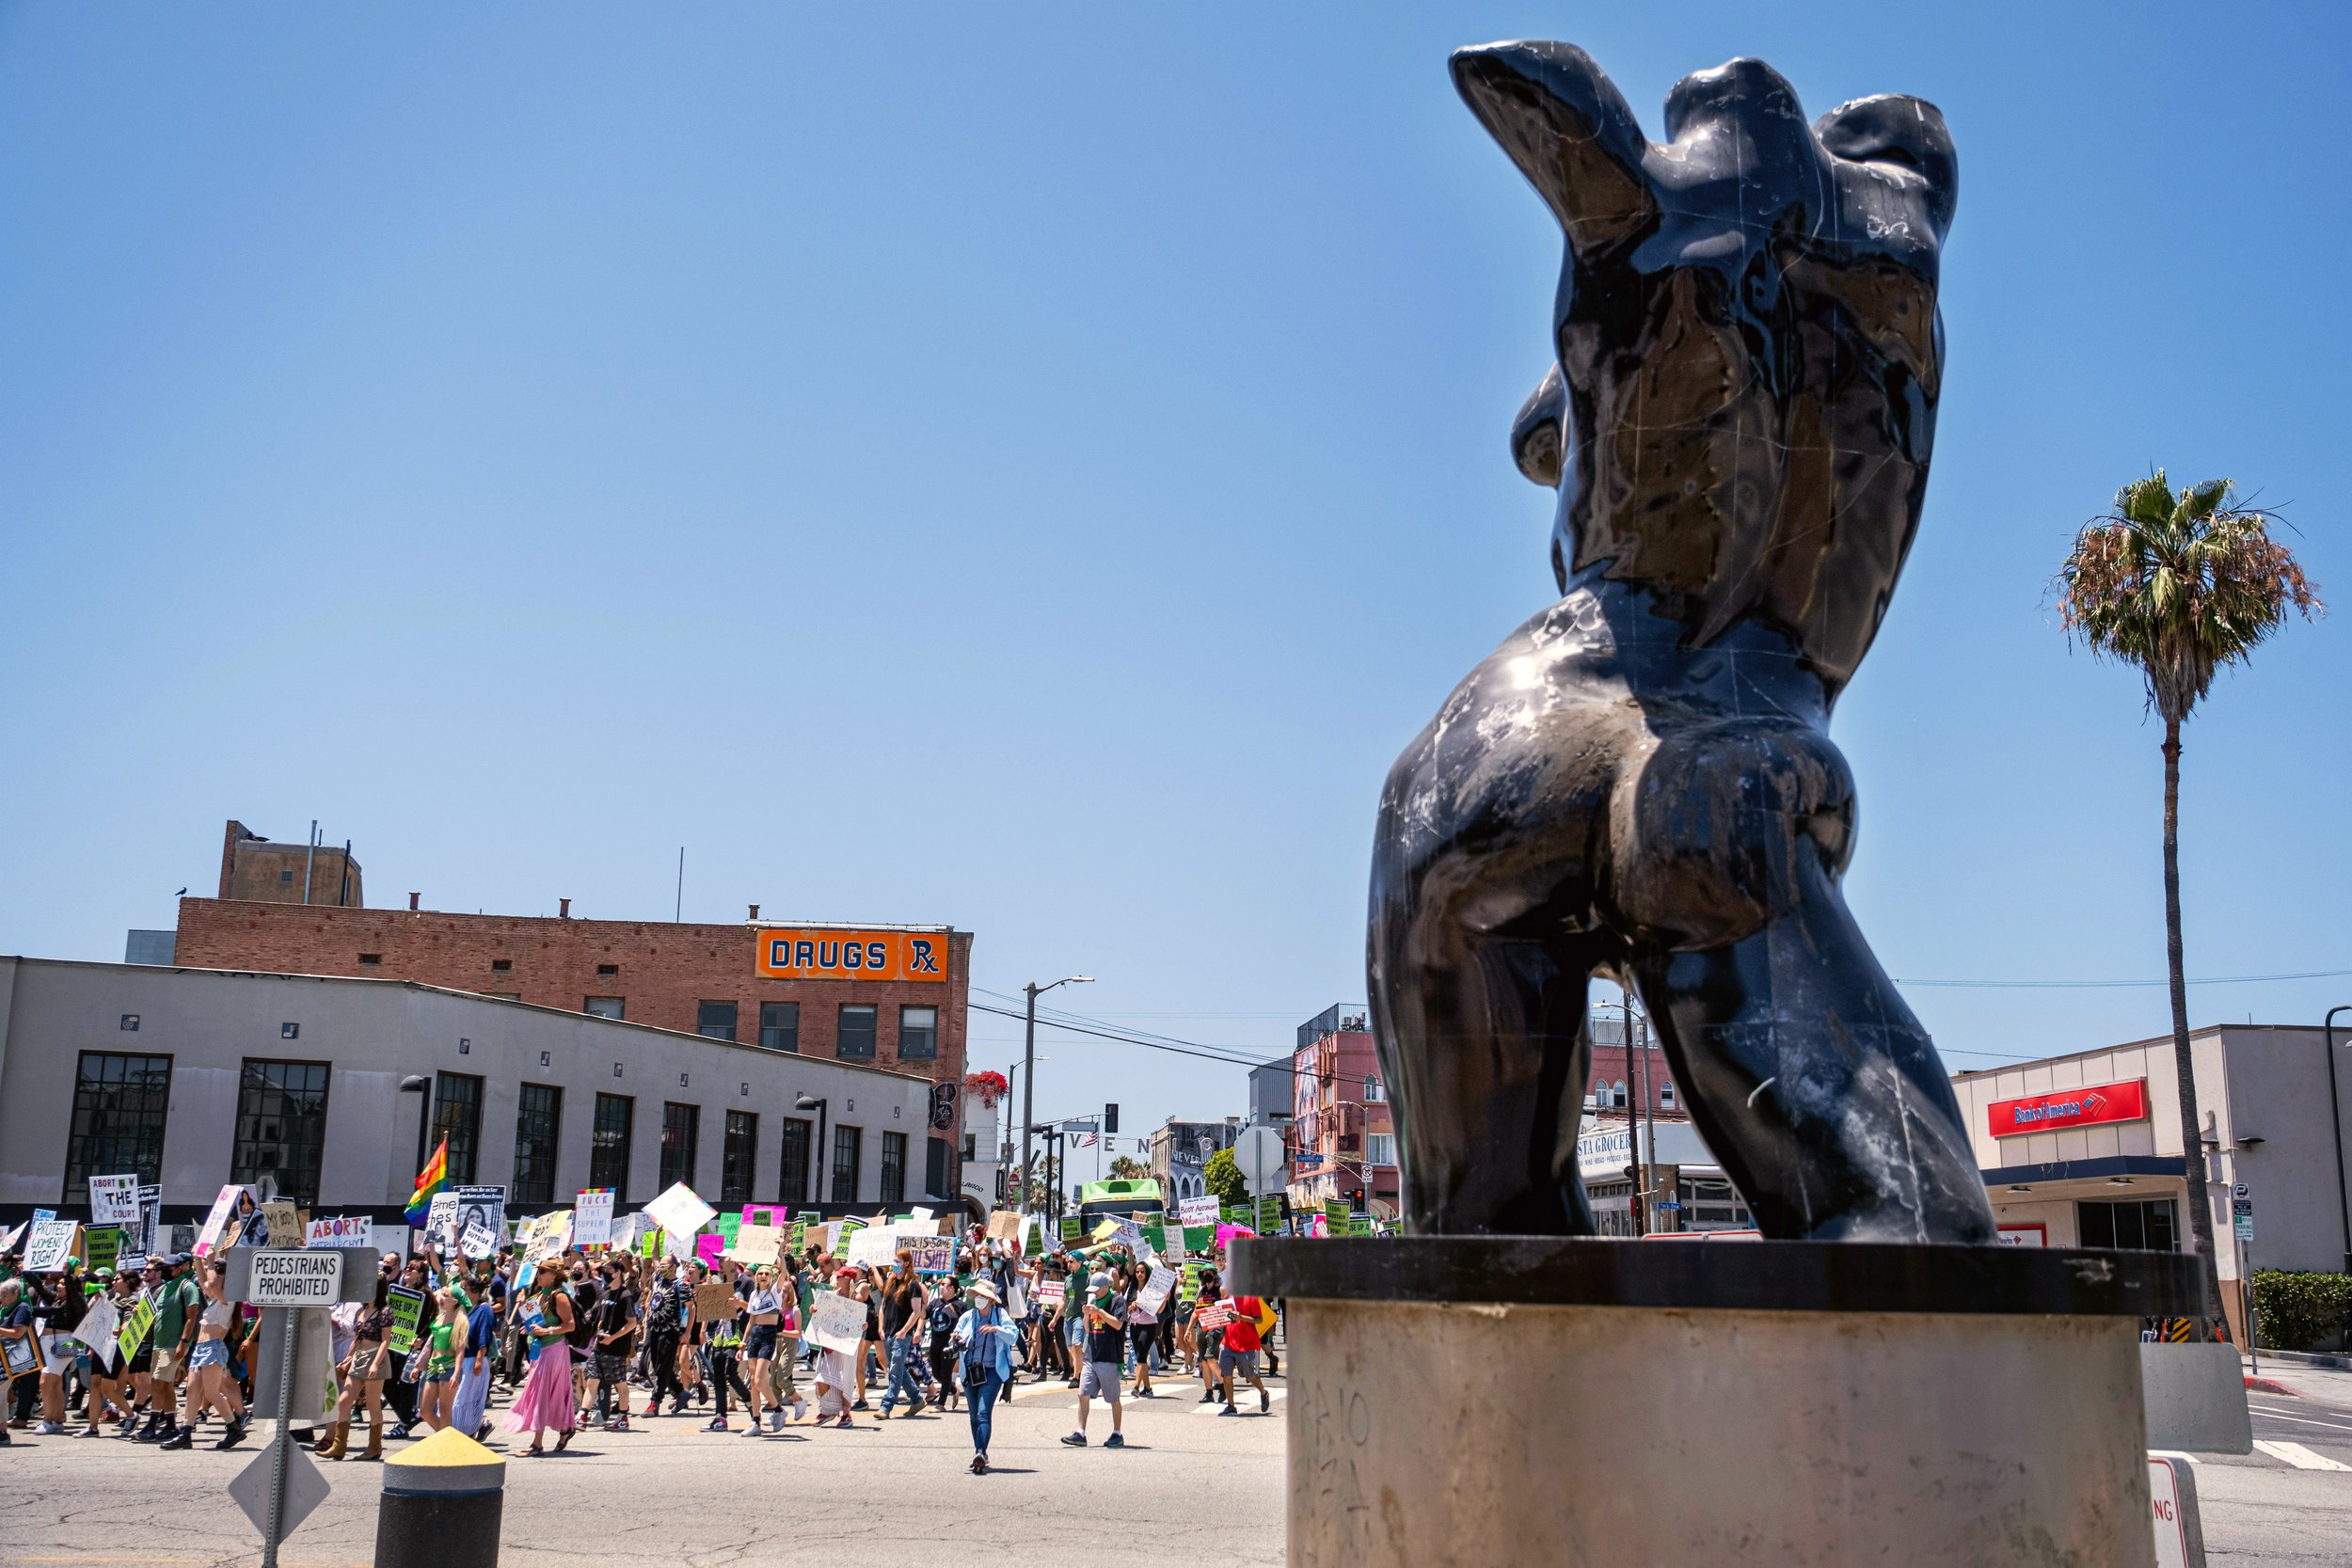
[[[2058,569],[2058,616],[2093,654],[2147,679],[2164,719],[2164,959],[2173,990],[2173,1072],[2180,1084],[2180,1168],[2190,1237],[2206,1260],[2206,1316],[2220,1316],[2213,1211],[2206,1199],[2204,1121],[2190,1063],[2190,990],[2180,966],[2180,726],[2213,675],[2244,663],[2296,609],[2321,611],[2314,585],[2286,545],[2270,538],[2272,512],[2239,505],[2230,480],[2178,496],[2159,468],[2114,491],[2114,510],[2074,536]]]

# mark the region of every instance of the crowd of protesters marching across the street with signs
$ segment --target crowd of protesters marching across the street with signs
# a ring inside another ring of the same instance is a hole
[[[256,1309],[226,1298],[221,1260],[167,1253],[85,1272],[66,1258],[40,1276],[19,1262],[0,1253],[0,1342],[31,1338],[40,1356],[38,1373],[9,1385],[0,1443],[9,1427],[33,1425],[35,1403],[47,1436],[66,1434],[75,1415],[73,1436],[85,1439],[186,1450],[216,1422],[209,1448],[245,1441]],[[1214,1255],[1183,1269],[1188,1286],[1155,1305],[1150,1262],[1127,1246],[1021,1255],[978,1227],[957,1244],[955,1274],[917,1274],[908,1251],[851,1265],[809,1246],[746,1267],[621,1251],[529,1260],[513,1246],[466,1260],[426,1244],[412,1258],[386,1253],[367,1300],[332,1309],[336,1399],[310,1432],[325,1460],[376,1460],[386,1441],[442,1427],[487,1439],[492,1403],[506,1396],[499,1425],[527,1439],[524,1455],[541,1455],[590,1425],[630,1432],[635,1399],[642,1418],[691,1418],[703,1432],[750,1439],[804,1422],[849,1427],[861,1413],[887,1422],[960,1408],[971,1472],[985,1474],[995,1406],[1023,1378],[1077,1389],[1077,1429],[1061,1439],[1073,1448],[1087,1446],[1096,1401],[1110,1408],[1103,1446],[1124,1446],[1122,1399],[1169,1396],[1160,1380],[1197,1380],[1200,1401],[1221,1401],[1223,1415],[1242,1413],[1235,1394],[1247,1385],[1265,1413],[1261,1352],[1279,1375],[1272,1305],[1228,1298]],[[400,1300],[421,1298],[414,1326],[395,1312],[395,1288]],[[863,1309],[854,1349],[811,1338],[818,1293]],[[75,1338],[101,1300],[118,1321],[153,1312],[129,1356],[101,1356]],[[365,1429],[358,1453],[355,1429]]]

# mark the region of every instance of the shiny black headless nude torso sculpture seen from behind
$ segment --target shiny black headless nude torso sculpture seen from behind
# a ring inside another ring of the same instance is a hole
[[[1830,708],[1893,595],[1943,371],[1943,115],[1806,125],[1750,59],[1665,143],[1581,52],[1454,78],[1566,235],[1557,362],[1512,430],[1559,489],[1562,599],[1390,771],[1371,1006],[1421,1232],[1592,1229],[1588,985],[1632,985],[1771,1237],[1990,1241],[1926,1030],[1837,879]]]

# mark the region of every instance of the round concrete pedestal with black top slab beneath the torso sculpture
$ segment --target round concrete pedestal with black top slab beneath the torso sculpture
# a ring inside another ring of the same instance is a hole
[[[2152,1559],[2161,1253],[1242,1241],[1284,1298],[1291,1568]]]

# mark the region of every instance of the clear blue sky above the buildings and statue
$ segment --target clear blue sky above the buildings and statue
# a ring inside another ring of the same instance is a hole
[[[1390,759],[1550,597],[1505,430],[1559,235],[1444,73],[1543,35],[1651,134],[1731,54],[1945,108],[1849,893],[1912,983],[2161,978],[2157,729],[2046,583],[2161,463],[2352,595],[2347,12],[1856,16],[0,9],[0,950],[118,959],[223,818],[315,816],[374,903],[668,917],[684,846],[689,919],[953,922],[985,992],[1287,1048],[1364,994]],[[2352,969],[2347,677],[2298,625],[2192,722],[2192,976]],[[1910,999],[1957,1067],[2166,1027],[2159,985]],[[1242,1110],[1044,1053],[1042,1114]]]

